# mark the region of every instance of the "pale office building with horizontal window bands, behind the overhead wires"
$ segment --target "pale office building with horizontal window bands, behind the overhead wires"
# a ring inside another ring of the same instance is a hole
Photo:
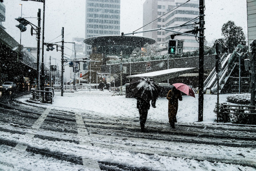
[[[180,25],[197,17],[199,15],[199,0],[190,1],[175,9],[185,2],[186,0],[146,0],[143,4],[143,26],[164,14],[166,15],[145,26],[143,30]],[[174,31],[184,32],[191,29],[193,29],[192,26],[186,26],[175,28]],[[158,30],[145,32],[143,36],[154,38],[157,44],[166,44],[170,39],[170,34],[173,32]],[[193,36],[179,35],[175,36],[175,39],[184,40],[183,52],[195,51],[199,48],[199,44]]]

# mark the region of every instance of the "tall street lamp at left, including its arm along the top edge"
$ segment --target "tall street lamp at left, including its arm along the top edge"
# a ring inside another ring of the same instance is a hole
[[[44,3],[44,8],[42,11],[42,63],[41,63],[41,90],[44,90],[45,84],[44,84],[44,76],[45,76],[45,70],[44,70],[44,42],[45,42],[45,9],[46,9],[46,2],[45,0],[22,0],[22,1],[34,1],[39,3]]]

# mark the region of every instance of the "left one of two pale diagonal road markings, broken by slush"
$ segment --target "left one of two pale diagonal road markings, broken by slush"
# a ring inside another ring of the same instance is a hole
[[[32,129],[38,130],[39,127],[42,125],[42,123],[45,121],[47,115],[50,113],[51,109],[47,108],[42,114],[41,116],[35,121],[35,123],[32,125]],[[25,134],[25,136],[29,137],[29,138],[34,138],[35,134]],[[23,144],[17,144],[14,148],[13,151],[20,151],[20,152],[25,152],[27,149],[27,145],[23,145]]]

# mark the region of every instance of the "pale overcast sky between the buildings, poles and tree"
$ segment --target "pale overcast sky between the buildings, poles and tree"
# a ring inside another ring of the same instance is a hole
[[[144,2],[145,0],[121,0],[121,32],[131,33],[142,27]],[[6,31],[19,42],[20,31],[15,27],[18,22],[14,18],[20,16],[21,9],[23,9],[23,17],[37,17],[38,8],[42,11],[42,4],[32,1],[4,0],[6,22],[3,22],[3,25]],[[85,6],[85,0],[46,0],[45,42],[53,39],[51,42],[61,41],[62,27],[65,28],[65,41],[73,41],[73,37],[84,37]],[[205,0],[205,7],[205,36],[208,42],[222,37],[221,27],[228,20],[241,26],[247,36],[246,0]],[[37,25],[36,18],[26,19]],[[25,47],[37,45],[35,35],[30,35],[30,27],[28,31],[22,33],[22,45]],[[72,44],[65,46],[72,49]],[[50,53],[53,52],[45,54],[60,56],[60,52]],[[72,51],[65,49],[65,53],[71,55]],[[55,57],[60,59],[57,56]]]

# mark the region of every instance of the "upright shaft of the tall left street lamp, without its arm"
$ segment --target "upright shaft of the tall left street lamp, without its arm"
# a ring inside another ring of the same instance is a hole
[[[41,90],[45,89],[45,66],[44,66],[44,43],[45,43],[45,10],[46,2],[44,1],[44,11],[42,12],[42,63],[41,63]],[[44,101],[44,96],[43,99]]]

